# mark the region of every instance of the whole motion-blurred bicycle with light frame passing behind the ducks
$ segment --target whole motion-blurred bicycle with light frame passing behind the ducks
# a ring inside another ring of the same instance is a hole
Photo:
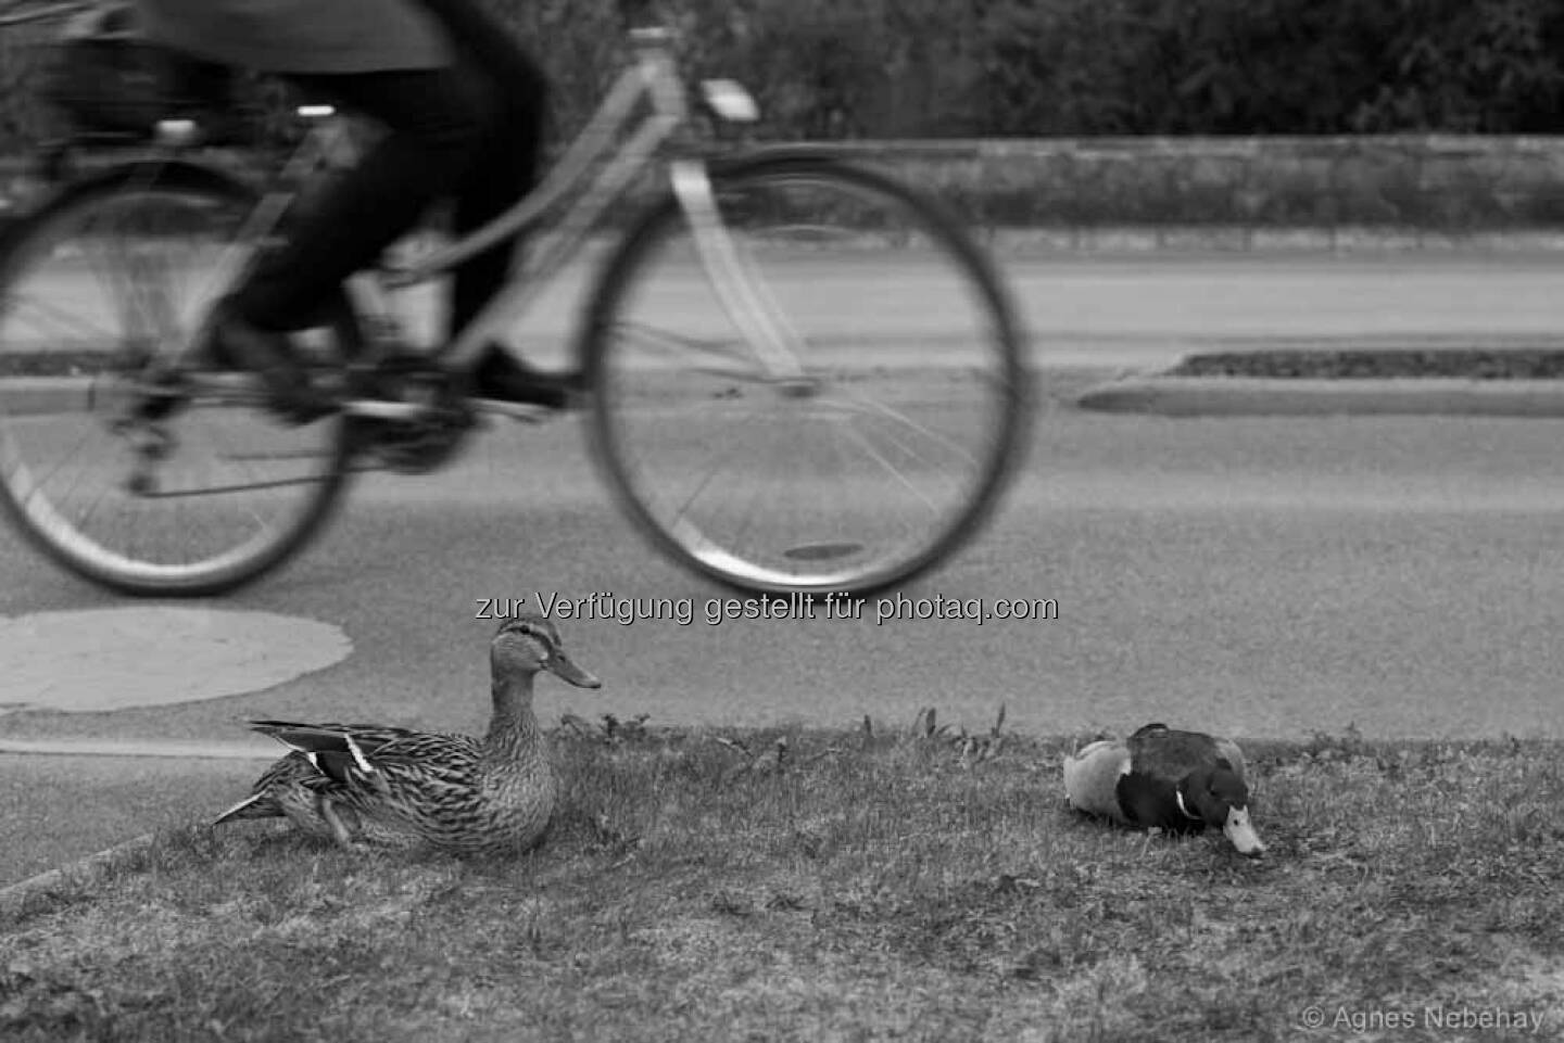
[[[6,516],[119,593],[253,582],[322,530],[358,471],[432,471],[480,416],[538,419],[469,399],[463,377],[486,341],[513,350],[505,332],[549,277],[602,239],[574,336],[579,405],[652,546],[762,594],[865,596],[946,560],[1026,441],[1032,377],[995,266],[942,203],[879,169],[701,134],[702,116],[752,122],[752,99],[726,80],[687,89],[669,28],[629,34],[630,63],[527,199],[383,260],[311,317],[296,339],[339,407],[313,424],[278,422],[253,377],[186,360],[211,302],[286,227],[294,186],[350,161],[341,114],[300,109],[314,122],[264,191],[181,149],[197,128],[174,120],[167,155],[55,194],[0,244]],[[530,246],[482,316],[407,350],[396,294],[521,231]],[[175,300],[185,267],[199,278]],[[823,294],[838,277],[884,300]],[[918,313],[898,319],[902,302]]]

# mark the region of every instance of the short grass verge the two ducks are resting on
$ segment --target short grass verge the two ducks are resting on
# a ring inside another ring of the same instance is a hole
[[[160,837],[0,921],[0,1038],[1290,1040],[1564,1024],[1564,762],[1250,743],[1259,862],[1081,819],[1067,740],[566,721],[549,843]],[[1378,1013],[1376,1013],[1378,1012]],[[1401,1016],[1397,1013],[1397,1016]],[[1342,1020],[1348,1021],[1342,1021]]]

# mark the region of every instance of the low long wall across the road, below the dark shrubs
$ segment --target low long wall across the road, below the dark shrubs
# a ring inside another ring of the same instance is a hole
[[[1236,244],[1337,236],[1564,236],[1564,136],[1084,138],[840,144],[990,231],[1115,228]],[[0,161],[3,163],[3,161]],[[0,164],[0,197],[30,191]],[[3,203],[0,203],[3,206]]]

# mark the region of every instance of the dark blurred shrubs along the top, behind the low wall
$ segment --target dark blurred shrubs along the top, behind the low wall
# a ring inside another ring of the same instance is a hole
[[[560,130],[624,58],[616,0],[483,0],[547,67]],[[1548,133],[1558,0],[658,0],[694,75],[776,138]],[[36,136],[0,30],[0,150]]]

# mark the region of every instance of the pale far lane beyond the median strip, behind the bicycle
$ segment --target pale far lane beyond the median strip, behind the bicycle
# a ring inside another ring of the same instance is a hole
[[[1038,253],[1001,255],[1040,361],[1159,366],[1190,350],[1314,341],[1564,341],[1564,258],[1558,253]],[[812,310],[927,325],[912,266],[854,264],[799,272]],[[549,352],[566,342],[585,271],[565,274],[524,327]],[[679,291],[704,292],[693,274]],[[866,311],[866,302],[877,308]],[[416,308],[422,316],[425,305]]]

